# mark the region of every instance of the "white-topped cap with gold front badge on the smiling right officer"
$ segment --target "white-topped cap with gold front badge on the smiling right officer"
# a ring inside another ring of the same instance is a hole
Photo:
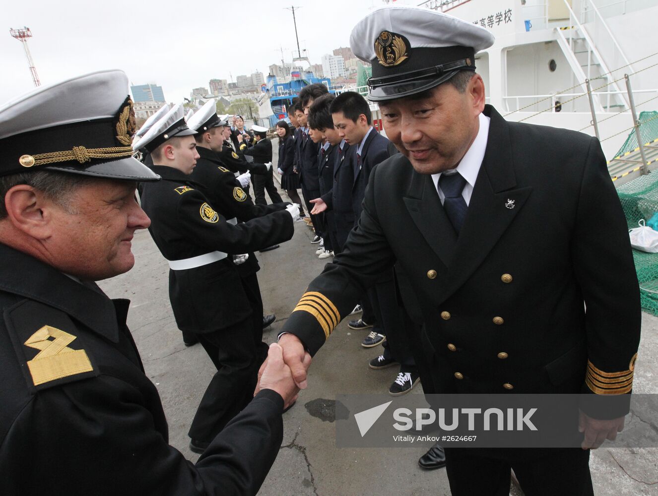
[[[372,64],[368,98],[405,97],[475,70],[475,54],[493,45],[486,29],[443,12],[418,7],[384,7],[352,30],[355,57]]]

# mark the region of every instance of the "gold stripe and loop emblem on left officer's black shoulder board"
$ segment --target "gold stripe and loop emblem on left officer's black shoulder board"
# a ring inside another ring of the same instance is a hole
[[[84,349],[68,347],[74,339],[76,337],[68,332],[43,326],[25,341],[26,346],[40,350],[28,361],[34,385],[93,371]]]

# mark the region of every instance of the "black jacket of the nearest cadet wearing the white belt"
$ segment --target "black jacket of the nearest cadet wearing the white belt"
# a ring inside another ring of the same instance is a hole
[[[163,180],[144,186],[141,207],[151,218],[153,241],[167,260],[190,259],[213,251],[249,253],[293,235],[293,220],[286,211],[233,226],[188,176],[166,166],[155,165],[153,170]],[[233,188],[233,194],[238,200],[247,196],[239,186]],[[221,330],[251,313],[230,256],[187,270],[170,270],[169,297],[178,328],[191,332]]]

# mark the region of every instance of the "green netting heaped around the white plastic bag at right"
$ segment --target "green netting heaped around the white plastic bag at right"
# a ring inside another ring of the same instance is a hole
[[[658,212],[658,174],[647,174],[629,181],[620,186],[617,193],[629,229],[638,227],[640,219],[649,220],[655,212]],[[644,253],[633,249],[633,259],[640,282],[642,309],[658,315],[658,253]]]

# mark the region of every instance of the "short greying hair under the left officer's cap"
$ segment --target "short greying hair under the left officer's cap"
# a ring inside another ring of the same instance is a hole
[[[80,174],[67,174],[66,172],[52,172],[50,170],[0,176],[0,198],[2,199],[0,202],[0,219],[7,216],[7,209],[5,208],[7,191],[18,184],[27,184],[34,187],[34,189],[38,189],[67,212],[74,213],[70,203],[73,191],[91,181],[93,181],[92,178]]]

